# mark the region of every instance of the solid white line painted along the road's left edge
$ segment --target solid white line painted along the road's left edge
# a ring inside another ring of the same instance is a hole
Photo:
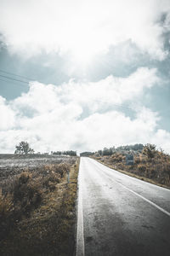
[[[82,213],[82,175],[79,170],[78,188],[78,212],[77,212],[77,256],[84,256],[84,232],[83,232],[83,213]]]

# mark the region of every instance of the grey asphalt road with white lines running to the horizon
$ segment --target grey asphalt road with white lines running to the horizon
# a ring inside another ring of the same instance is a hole
[[[81,158],[77,256],[170,255],[170,190]]]

